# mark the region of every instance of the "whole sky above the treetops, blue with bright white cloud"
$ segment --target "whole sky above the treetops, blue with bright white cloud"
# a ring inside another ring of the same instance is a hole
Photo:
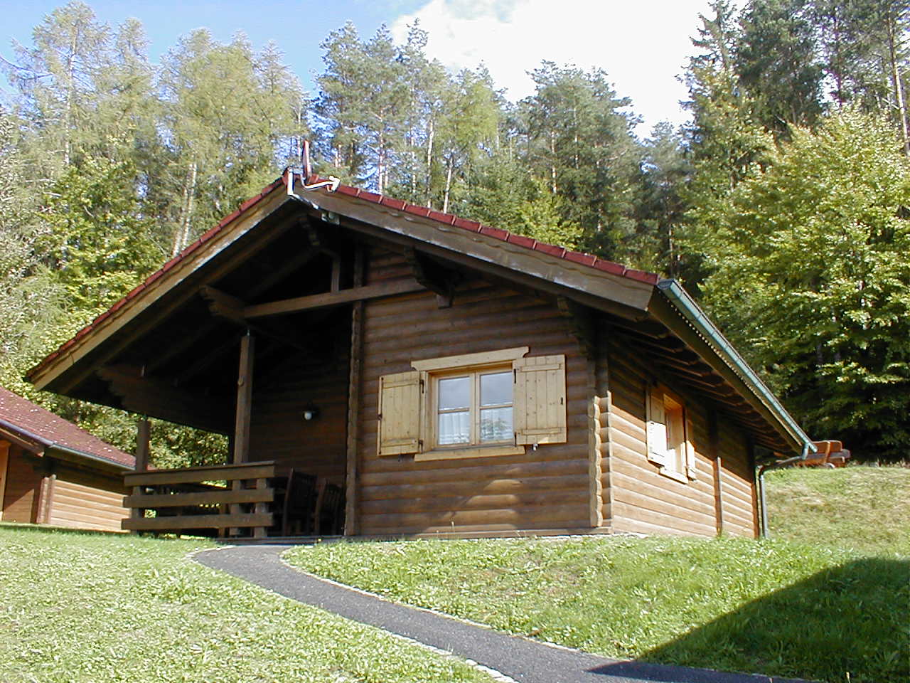
[[[32,28],[64,3],[0,0],[4,17],[0,55],[12,58],[11,41],[31,40]],[[88,2],[98,18],[117,25],[135,16],[146,28],[153,61],[177,38],[206,26],[221,41],[238,30],[257,49],[274,40],[286,61],[312,91],[321,70],[319,43],[352,20],[361,36],[380,24],[403,39],[406,25],[419,17],[430,31],[428,52],[451,68],[490,68],[497,86],[511,99],[531,92],[526,72],[542,59],[582,68],[599,66],[619,95],[632,97],[632,110],[645,118],[638,133],[646,137],[662,119],[679,124],[685,97],[676,80],[707,0],[275,0],[268,3],[157,0]]]

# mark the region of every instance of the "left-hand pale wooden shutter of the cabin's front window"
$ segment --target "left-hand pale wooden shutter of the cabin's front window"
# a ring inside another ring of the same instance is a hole
[[[420,453],[420,372],[379,378],[379,455]]]

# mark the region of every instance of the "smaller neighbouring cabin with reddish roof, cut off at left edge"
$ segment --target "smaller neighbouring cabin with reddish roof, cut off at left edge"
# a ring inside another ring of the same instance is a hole
[[[120,531],[132,455],[0,387],[0,521]]]

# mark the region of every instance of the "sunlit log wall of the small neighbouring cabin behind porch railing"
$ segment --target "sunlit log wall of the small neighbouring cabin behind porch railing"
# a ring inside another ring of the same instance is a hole
[[[54,499],[46,523],[95,531],[120,531],[129,516],[123,506],[123,477],[57,464]]]

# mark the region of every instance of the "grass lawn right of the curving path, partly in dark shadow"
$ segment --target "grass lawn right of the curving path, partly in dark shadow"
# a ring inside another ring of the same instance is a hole
[[[906,505],[897,492],[908,473],[788,471],[769,486],[843,472],[844,481],[891,473],[862,484],[883,495],[885,509],[857,505],[862,523],[845,523],[849,530],[839,535],[841,525],[825,521],[808,535],[812,543],[426,540],[300,547],[288,560],[401,602],[609,657],[831,683],[847,681],[848,672],[854,683],[910,680],[910,544],[907,516],[893,509]],[[834,478],[821,481],[840,497]],[[789,514],[771,512],[780,536],[792,529]],[[889,520],[879,523],[888,528],[864,536],[862,526],[875,519]]]

